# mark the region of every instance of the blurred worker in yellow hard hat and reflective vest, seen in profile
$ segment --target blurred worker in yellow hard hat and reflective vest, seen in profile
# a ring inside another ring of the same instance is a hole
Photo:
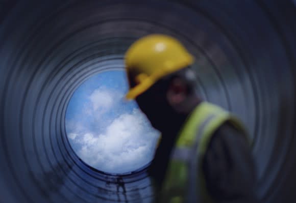
[[[175,38],[149,35],[125,55],[135,99],[162,138],[149,169],[159,202],[255,202],[250,141],[228,111],[196,93],[193,56]]]

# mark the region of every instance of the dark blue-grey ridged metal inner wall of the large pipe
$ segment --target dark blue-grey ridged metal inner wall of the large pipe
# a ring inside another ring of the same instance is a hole
[[[1,2],[1,1],[0,1]],[[88,77],[122,69],[138,37],[165,33],[196,56],[202,97],[242,119],[262,202],[295,198],[296,9],[292,1],[19,1],[0,4],[1,202],[150,202],[145,169],[92,170],[65,133]]]

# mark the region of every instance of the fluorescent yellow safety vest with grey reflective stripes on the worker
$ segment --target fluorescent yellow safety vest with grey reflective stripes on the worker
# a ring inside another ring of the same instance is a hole
[[[172,150],[161,202],[214,202],[206,188],[202,163],[212,135],[225,122],[231,123],[247,138],[243,125],[228,111],[207,102],[193,110]]]

